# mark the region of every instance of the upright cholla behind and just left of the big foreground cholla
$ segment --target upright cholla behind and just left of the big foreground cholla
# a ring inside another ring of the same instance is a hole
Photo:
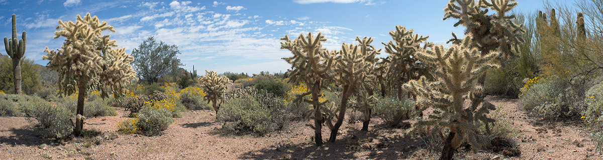
[[[382,43],[385,45],[385,53],[390,54],[382,63],[388,65],[387,86],[390,89],[397,89],[397,96],[402,99],[402,84],[409,80],[416,80],[421,76],[429,75],[429,70],[433,68],[417,61],[416,53],[418,50],[428,49],[433,44],[427,41],[429,36],[412,34],[413,30],[406,30],[404,26],[396,26],[396,30],[390,31],[391,38],[394,41]],[[421,46],[421,43],[424,43]]]

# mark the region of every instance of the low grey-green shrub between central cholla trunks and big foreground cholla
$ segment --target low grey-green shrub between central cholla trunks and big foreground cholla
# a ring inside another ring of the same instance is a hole
[[[392,96],[379,98],[374,105],[373,115],[380,117],[387,125],[397,126],[402,120],[409,119],[415,103],[411,99],[398,99]]]

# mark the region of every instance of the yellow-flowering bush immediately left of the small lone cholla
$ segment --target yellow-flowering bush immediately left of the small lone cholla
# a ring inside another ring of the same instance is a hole
[[[189,110],[209,109],[206,101],[203,101],[205,93],[200,87],[186,87],[180,90],[180,100]]]

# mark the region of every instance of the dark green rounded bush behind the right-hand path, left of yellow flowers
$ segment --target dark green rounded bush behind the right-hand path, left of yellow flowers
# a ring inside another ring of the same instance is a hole
[[[514,67],[496,68],[486,73],[484,92],[490,95],[508,96],[517,98],[523,86],[523,77]]]

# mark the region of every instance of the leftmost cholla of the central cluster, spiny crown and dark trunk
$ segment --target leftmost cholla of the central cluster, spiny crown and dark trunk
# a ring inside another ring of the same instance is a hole
[[[306,86],[310,87],[308,92],[298,95],[295,101],[308,102],[314,106],[311,110],[314,114],[310,114],[309,118],[314,119],[314,126],[312,126],[314,128],[314,140],[317,146],[321,146],[323,144],[321,134],[324,122],[323,112],[327,111],[321,106],[328,101],[319,102],[318,96],[320,95],[323,82],[331,79],[328,71],[333,64],[333,59],[336,58],[334,58],[333,53],[323,49],[323,45],[320,42],[327,39],[321,33],[318,33],[316,37],[312,36],[311,32],[306,37],[300,34],[293,41],[289,39],[288,35],[285,35],[280,40],[282,40],[280,49],[287,49],[293,54],[291,57],[283,58],[291,64],[292,70],[288,71],[289,82],[305,83]],[[303,97],[306,95],[311,95],[312,99],[304,99]]]

